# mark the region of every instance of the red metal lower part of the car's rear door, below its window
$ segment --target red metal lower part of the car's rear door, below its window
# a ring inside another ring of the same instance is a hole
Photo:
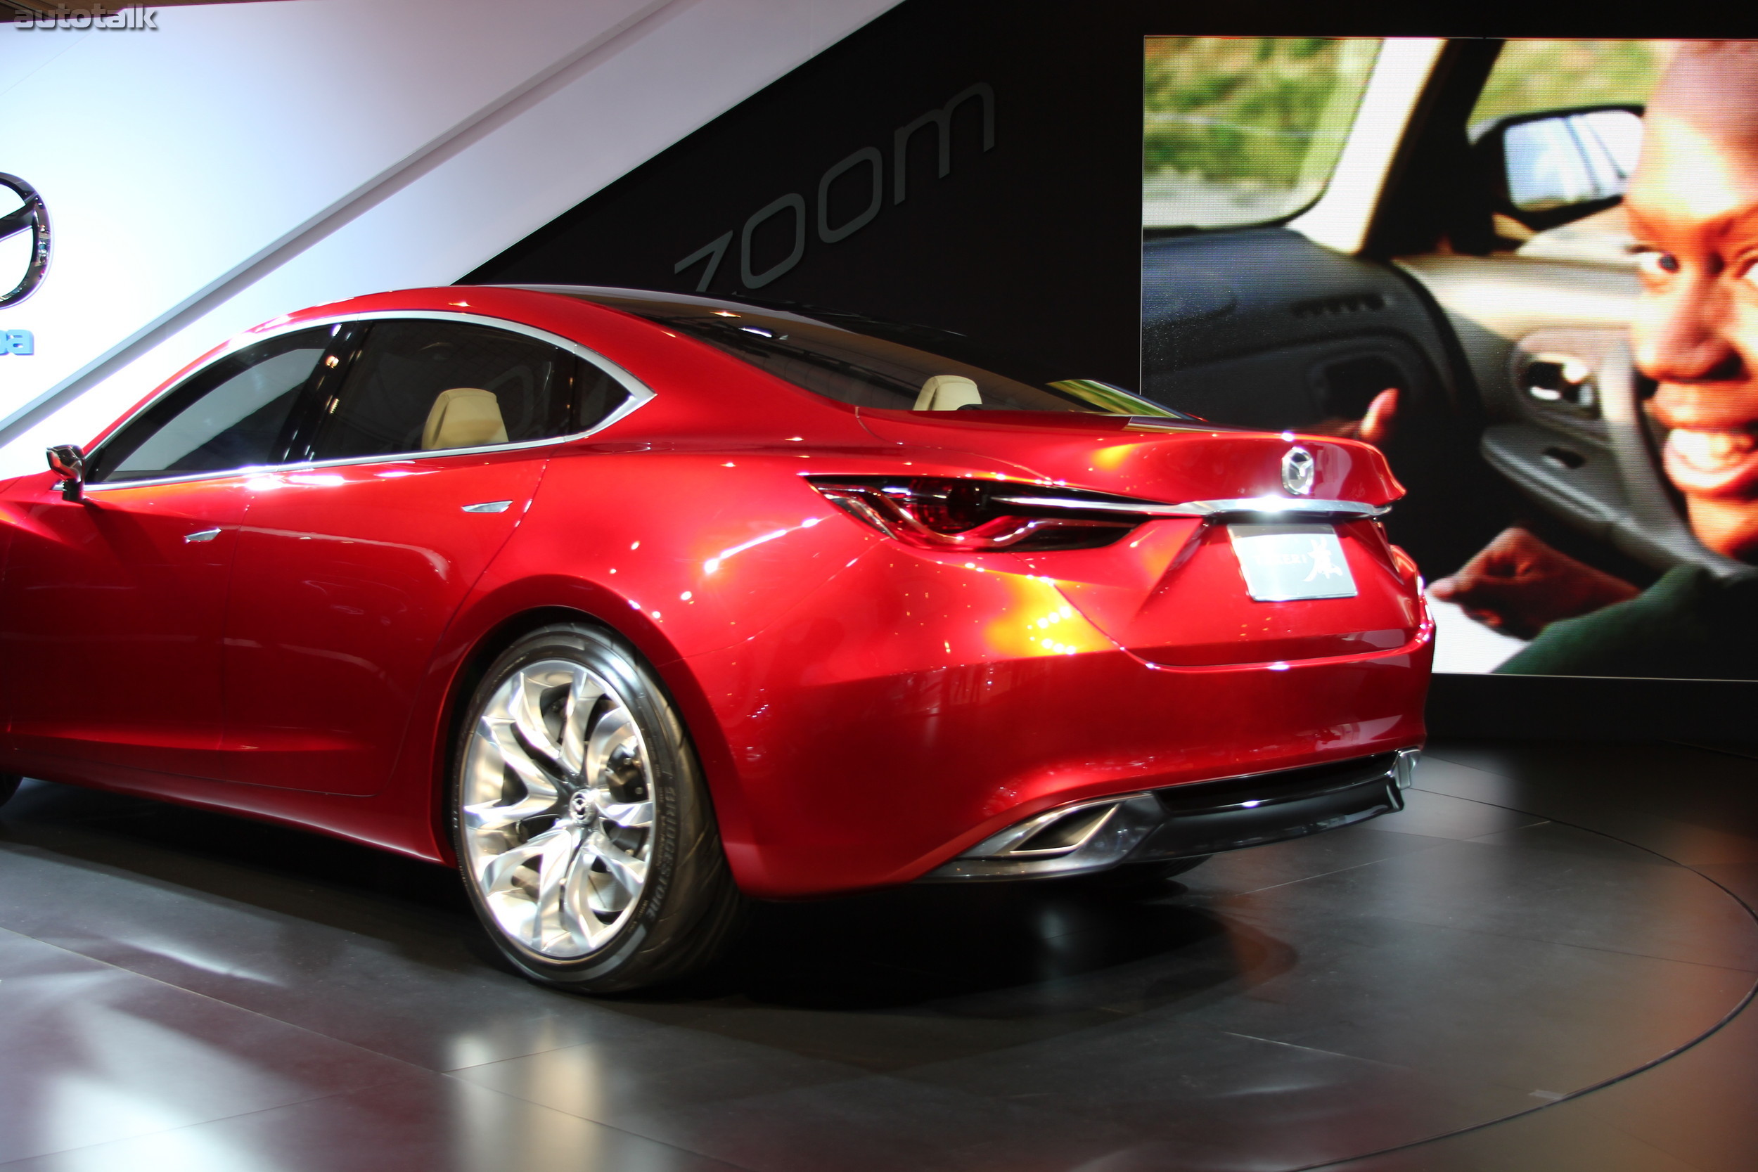
[[[543,466],[512,450],[251,480],[225,626],[225,777],[378,792],[440,634]]]

